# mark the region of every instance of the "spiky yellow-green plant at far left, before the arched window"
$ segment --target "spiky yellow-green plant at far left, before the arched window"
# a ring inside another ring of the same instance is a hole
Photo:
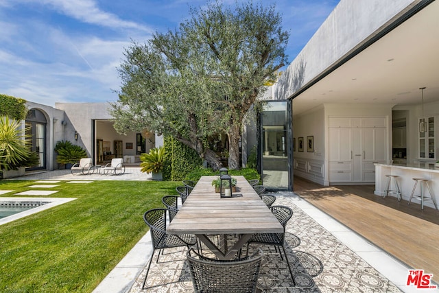
[[[0,117],[0,172],[38,163],[38,154],[30,150],[29,136],[20,126],[20,121]]]

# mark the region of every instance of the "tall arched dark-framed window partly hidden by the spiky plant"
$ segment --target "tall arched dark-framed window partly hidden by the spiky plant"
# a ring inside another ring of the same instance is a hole
[[[38,165],[30,166],[27,170],[46,167],[46,125],[47,119],[43,112],[38,109],[31,109],[27,112],[26,134],[29,136],[32,152],[37,152],[40,158]]]

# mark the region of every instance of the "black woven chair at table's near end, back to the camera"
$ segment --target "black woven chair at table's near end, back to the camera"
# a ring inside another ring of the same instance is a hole
[[[263,252],[256,250],[242,259],[222,261],[187,252],[195,292],[256,292]]]

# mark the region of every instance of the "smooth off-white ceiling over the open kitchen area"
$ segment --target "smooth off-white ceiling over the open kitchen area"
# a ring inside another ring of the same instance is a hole
[[[439,1],[293,99],[294,115],[324,103],[414,105],[439,100]]]

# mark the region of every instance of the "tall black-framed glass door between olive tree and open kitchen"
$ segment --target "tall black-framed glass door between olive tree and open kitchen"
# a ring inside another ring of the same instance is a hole
[[[291,102],[270,101],[259,115],[262,183],[270,191],[292,191]]]

